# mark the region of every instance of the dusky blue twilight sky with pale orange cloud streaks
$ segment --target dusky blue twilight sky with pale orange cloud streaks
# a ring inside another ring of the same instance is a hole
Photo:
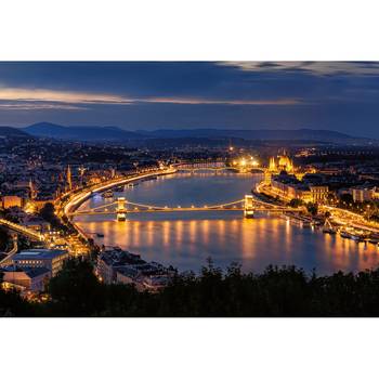
[[[2,62],[0,125],[379,138],[378,62]]]

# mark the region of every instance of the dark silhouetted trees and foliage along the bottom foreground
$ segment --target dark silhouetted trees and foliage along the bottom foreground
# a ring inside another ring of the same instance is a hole
[[[256,275],[209,262],[199,275],[177,275],[159,293],[148,293],[102,284],[89,261],[69,260],[48,291],[48,302],[32,304],[2,291],[0,310],[17,316],[379,316],[379,269],[318,277],[269,266]]]

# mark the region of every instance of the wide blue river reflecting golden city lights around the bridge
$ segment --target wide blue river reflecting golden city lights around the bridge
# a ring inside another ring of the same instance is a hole
[[[115,197],[155,206],[210,206],[243,198],[260,180],[259,174],[177,173],[141,182]],[[95,195],[80,210],[112,201]],[[238,262],[245,272],[262,272],[269,264],[295,264],[306,272],[315,269],[318,274],[330,274],[379,263],[379,248],[374,245],[324,235],[264,213],[254,219],[245,219],[241,211],[135,213],[126,222],[115,219],[80,215],[75,221],[100,245],[119,246],[180,271],[198,272],[209,257],[223,269]]]

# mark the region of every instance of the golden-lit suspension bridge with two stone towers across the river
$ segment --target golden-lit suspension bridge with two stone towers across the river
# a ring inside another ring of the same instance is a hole
[[[277,206],[271,202],[257,200],[252,195],[245,195],[238,199],[225,204],[191,206],[191,207],[169,207],[140,204],[127,200],[125,197],[118,197],[115,201],[105,204],[91,209],[77,210],[68,213],[74,215],[92,215],[92,214],[116,214],[118,221],[127,220],[128,213],[148,213],[148,212],[199,212],[199,211],[243,211],[246,218],[252,218],[254,212],[286,212],[297,211],[293,208]]]

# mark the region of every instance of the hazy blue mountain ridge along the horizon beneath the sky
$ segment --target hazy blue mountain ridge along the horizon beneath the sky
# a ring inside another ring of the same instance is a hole
[[[261,141],[318,141],[330,143],[369,142],[373,139],[351,136],[332,130],[315,129],[158,129],[153,131],[128,131],[118,127],[63,127],[50,122],[38,122],[23,129],[35,136],[77,141],[130,141],[130,140],[170,140],[170,139],[207,139],[207,140],[261,140]]]

